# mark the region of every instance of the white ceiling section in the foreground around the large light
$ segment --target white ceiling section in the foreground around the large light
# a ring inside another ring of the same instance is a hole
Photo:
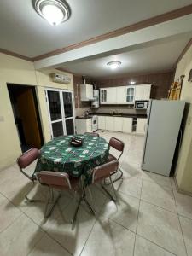
[[[50,26],[36,14],[31,0],[1,0],[0,48],[35,57],[191,4],[191,0],[67,2],[71,18],[60,26]]]

